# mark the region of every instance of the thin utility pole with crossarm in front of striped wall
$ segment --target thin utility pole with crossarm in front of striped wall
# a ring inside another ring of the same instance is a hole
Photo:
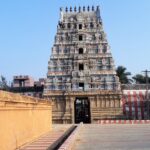
[[[146,101],[147,101],[147,117],[148,119],[150,119],[150,101],[149,101],[149,95],[148,95],[148,90],[149,90],[149,78],[148,78],[148,73],[150,73],[150,71],[145,70],[142,71],[145,73],[145,80],[146,80]]]

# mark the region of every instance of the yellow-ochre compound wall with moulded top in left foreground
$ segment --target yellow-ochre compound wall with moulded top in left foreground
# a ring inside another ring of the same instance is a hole
[[[0,91],[0,149],[13,150],[51,130],[51,103]]]

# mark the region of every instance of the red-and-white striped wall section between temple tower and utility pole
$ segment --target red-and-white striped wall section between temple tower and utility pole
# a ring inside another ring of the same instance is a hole
[[[123,114],[128,119],[146,119],[146,90],[124,90],[122,97]]]

